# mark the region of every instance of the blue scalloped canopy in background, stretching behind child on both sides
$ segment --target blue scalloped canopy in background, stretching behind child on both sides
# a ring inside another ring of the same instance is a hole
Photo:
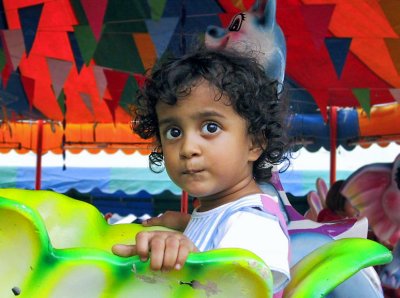
[[[0,167],[0,188],[35,188],[34,167]],[[337,178],[348,177],[351,172],[338,171]],[[329,171],[294,171],[280,174],[286,192],[296,196],[315,190],[316,178],[329,181]],[[80,193],[91,193],[108,198],[121,198],[122,195],[140,197],[158,195],[170,191],[180,195],[181,189],[168,177],[167,173],[153,173],[148,168],[77,168],[44,167],[42,169],[42,189],[66,193],[75,189]]]

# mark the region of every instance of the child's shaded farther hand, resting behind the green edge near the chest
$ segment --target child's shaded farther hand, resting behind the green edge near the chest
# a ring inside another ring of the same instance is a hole
[[[183,232],[186,229],[189,220],[190,214],[177,211],[166,211],[158,217],[152,217],[143,221],[142,225],[145,227],[163,226]]]

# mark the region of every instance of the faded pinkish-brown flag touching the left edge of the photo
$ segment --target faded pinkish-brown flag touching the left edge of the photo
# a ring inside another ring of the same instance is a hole
[[[16,70],[25,52],[24,37],[21,30],[2,30],[3,49],[13,70]]]

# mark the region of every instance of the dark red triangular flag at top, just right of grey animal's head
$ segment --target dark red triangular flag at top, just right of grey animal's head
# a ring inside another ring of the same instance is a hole
[[[328,33],[334,9],[334,4],[301,6],[304,22],[317,49],[322,46],[323,40]]]

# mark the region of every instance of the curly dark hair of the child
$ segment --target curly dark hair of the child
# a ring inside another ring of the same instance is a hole
[[[132,129],[143,139],[155,137],[156,148],[150,154],[150,168],[163,170],[163,151],[156,104],[169,105],[191,92],[201,80],[214,85],[227,96],[235,111],[247,121],[248,133],[263,148],[253,165],[257,182],[268,181],[272,165],[289,162],[286,136],[287,104],[278,98],[276,81],[270,80],[255,57],[232,50],[198,49],[180,58],[169,58],[153,68],[138,92]]]

